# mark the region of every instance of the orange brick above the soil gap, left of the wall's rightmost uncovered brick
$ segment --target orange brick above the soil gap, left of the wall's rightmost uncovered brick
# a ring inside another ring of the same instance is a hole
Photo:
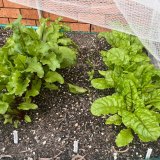
[[[85,31],[90,32],[90,24],[86,23],[65,23],[70,26],[73,31]]]

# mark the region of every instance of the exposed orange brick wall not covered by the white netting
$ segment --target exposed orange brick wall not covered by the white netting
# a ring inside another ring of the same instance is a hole
[[[25,25],[34,26],[39,24],[37,10],[9,2],[8,0],[0,0],[0,24],[8,24],[14,21],[19,14],[23,16],[22,23]],[[58,15],[50,14],[47,12],[42,12],[42,16],[45,18],[50,17],[51,21],[54,21],[58,17]],[[78,22],[66,17],[63,18],[63,22],[68,24],[74,31],[107,31],[107,29],[87,23]]]

